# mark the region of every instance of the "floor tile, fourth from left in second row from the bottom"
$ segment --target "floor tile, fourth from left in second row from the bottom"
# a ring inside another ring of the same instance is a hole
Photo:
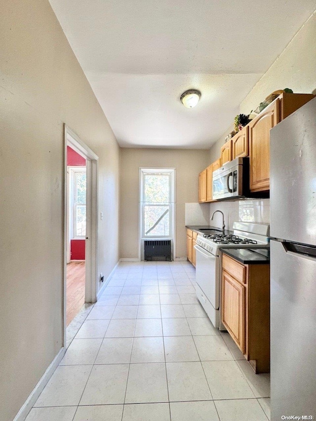
[[[170,402],[211,400],[200,362],[167,363]]]

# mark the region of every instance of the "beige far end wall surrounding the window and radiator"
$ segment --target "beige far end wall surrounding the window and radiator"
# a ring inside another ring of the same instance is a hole
[[[198,201],[198,173],[207,166],[204,150],[121,149],[120,257],[138,257],[139,168],[176,168],[176,257],[185,257],[185,203]]]

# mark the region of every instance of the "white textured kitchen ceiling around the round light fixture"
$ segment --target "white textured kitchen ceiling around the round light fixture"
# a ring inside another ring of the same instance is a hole
[[[315,0],[50,3],[120,146],[201,149],[316,8]],[[202,96],[187,109],[179,98],[192,88]]]

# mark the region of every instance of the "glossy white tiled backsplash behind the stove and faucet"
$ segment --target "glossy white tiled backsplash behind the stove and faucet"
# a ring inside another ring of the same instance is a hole
[[[270,224],[270,199],[245,199],[234,202],[216,202],[209,204],[209,217],[216,210],[224,213],[226,230],[233,230],[235,221],[261,222]],[[222,215],[216,213],[209,225],[222,228]]]

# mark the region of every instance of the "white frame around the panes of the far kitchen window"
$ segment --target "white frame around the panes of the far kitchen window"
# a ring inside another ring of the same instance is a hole
[[[169,202],[156,204],[155,202],[145,202],[145,175],[146,174],[170,174],[169,177]],[[139,225],[140,240],[150,239],[172,239],[175,238],[175,168],[139,168]],[[146,235],[145,234],[145,206],[153,203],[153,206],[169,206],[169,235]]]

